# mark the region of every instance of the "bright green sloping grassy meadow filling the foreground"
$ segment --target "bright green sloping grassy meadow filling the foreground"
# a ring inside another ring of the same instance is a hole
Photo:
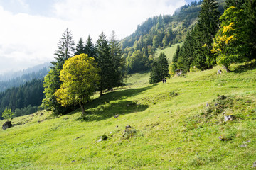
[[[0,169],[252,169],[256,64],[230,68],[153,85],[148,73],[134,74],[127,87],[89,103],[85,117],[14,118],[0,130]]]

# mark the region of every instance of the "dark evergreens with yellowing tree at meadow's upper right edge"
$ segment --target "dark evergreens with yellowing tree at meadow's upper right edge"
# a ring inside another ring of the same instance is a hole
[[[215,64],[229,72],[229,64],[255,58],[255,6],[255,1],[228,0],[220,15],[216,1],[204,0],[196,25],[188,31],[182,47],[177,47],[171,74],[176,69],[190,72]]]

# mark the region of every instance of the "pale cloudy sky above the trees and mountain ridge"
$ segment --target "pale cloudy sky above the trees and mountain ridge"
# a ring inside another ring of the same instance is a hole
[[[0,0],[0,74],[54,60],[66,28],[73,40],[103,31],[125,38],[147,18],[173,14],[191,0]]]

